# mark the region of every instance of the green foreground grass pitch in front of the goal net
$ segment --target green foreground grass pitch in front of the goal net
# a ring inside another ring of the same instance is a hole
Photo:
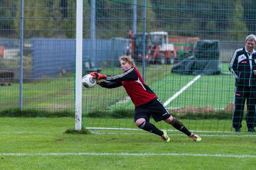
[[[183,120],[185,123],[186,120]],[[171,142],[142,130],[71,135],[74,118],[0,118],[1,169],[255,169],[255,133],[198,132]]]

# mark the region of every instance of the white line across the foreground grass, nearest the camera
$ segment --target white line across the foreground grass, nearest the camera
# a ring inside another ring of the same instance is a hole
[[[238,155],[238,154],[189,154],[189,153],[0,153],[0,156],[132,156],[132,157],[157,157],[157,156],[174,156],[174,157],[233,157],[233,158],[256,158],[256,155]]]

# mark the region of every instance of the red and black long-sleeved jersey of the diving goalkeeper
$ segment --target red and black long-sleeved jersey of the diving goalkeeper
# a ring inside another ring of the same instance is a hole
[[[144,84],[144,80],[139,74],[139,71],[133,67],[116,76],[107,75],[107,81],[102,82],[101,86],[108,89],[124,86],[124,89],[127,91],[127,94],[136,107],[157,98],[156,94],[151,91],[149,86]]]

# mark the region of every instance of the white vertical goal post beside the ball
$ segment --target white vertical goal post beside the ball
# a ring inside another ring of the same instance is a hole
[[[75,130],[82,129],[82,0],[76,0]]]

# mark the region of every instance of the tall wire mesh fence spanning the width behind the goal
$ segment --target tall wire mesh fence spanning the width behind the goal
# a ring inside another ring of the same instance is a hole
[[[82,72],[120,74],[118,57],[132,55],[146,84],[171,113],[223,114],[231,120],[235,79],[228,67],[246,36],[255,33],[254,4],[83,1]],[[3,0],[0,5],[1,110],[74,111],[75,0]],[[124,89],[99,86],[83,89],[82,106],[86,115],[119,118],[130,118],[122,111],[129,114],[134,108]]]

